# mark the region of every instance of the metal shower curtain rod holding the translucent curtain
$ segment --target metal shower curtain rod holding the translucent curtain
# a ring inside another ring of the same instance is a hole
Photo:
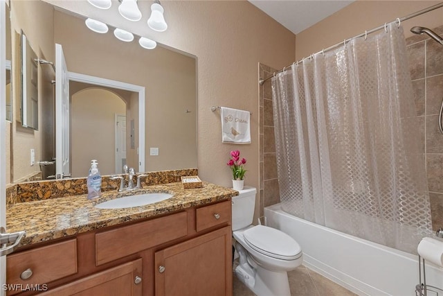
[[[385,24],[383,24],[383,25],[381,25],[381,26],[378,26],[377,28],[372,28],[372,29],[369,30],[369,31],[365,31],[364,33],[361,33],[361,34],[356,35],[356,36],[354,36],[354,37],[351,37],[351,38],[349,38],[349,39],[345,39],[345,40],[342,41],[342,42],[339,42],[339,43],[337,43],[337,44],[334,44],[334,45],[332,45],[332,46],[329,46],[327,49],[322,49],[321,51],[318,51],[317,53],[313,53],[313,54],[309,55],[309,57],[314,56],[314,55],[318,55],[318,54],[320,54],[320,53],[325,53],[326,51],[330,51],[330,50],[332,50],[332,49],[336,49],[338,46],[341,46],[341,45],[343,45],[343,44],[346,44],[347,42],[350,42],[351,40],[354,40],[354,39],[356,39],[356,38],[363,37],[363,36],[366,36],[366,35],[368,35],[368,34],[371,34],[371,33],[377,32],[377,31],[379,31],[379,30],[381,30],[381,29],[383,29],[383,28],[386,28],[386,24],[389,24],[389,23],[391,23],[391,22],[397,21],[397,22],[399,23],[399,25],[400,25],[401,21],[406,21],[407,19],[412,19],[413,17],[417,17],[417,16],[419,16],[419,15],[423,15],[423,14],[426,13],[426,12],[430,12],[430,11],[432,11],[432,10],[435,10],[435,9],[437,9],[437,8],[441,8],[441,7],[443,7],[443,2],[437,3],[437,4],[435,4],[434,6],[430,6],[430,7],[428,7],[428,8],[424,8],[424,9],[419,10],[419,11],[417,11],[417,12],[413,12],[413,13],[411,13],[410,15],[406,15],[406,17],[399,17],[399,18],[397,18],[397,19],[395,19],[395,20],[393,20],[393,21],[389,21],[388,23],[385,23]],[[308,58],[309,58],[309,57],[308,57]],[[298,62],[303,62],[303,60],[305,60],[305,59],[306,59],[306,58],[302,58],[302,60],[298,60],[298,61],[296,61],[296,62],[293,62],[292,64],[296,64],[296,63],[298,64]],[[259,83],[260,85],[263,85],[263,83],[264,83],[266,80],[269,80],[269,79],[273,78],[273,76],[274,76],[276,73],[280,73],[280,72],[284,71],[284,69],[291,67],[292,64],[289,64],[289,65],[287,65],[286,67],[283,67],[283,69],[280,69],[280,70],[274,72],[273,75],[271,75],[271,76],[269,76],[269,77],[267,77],[267,78],[260,78],[260,79],[258,80],[258,83]]]

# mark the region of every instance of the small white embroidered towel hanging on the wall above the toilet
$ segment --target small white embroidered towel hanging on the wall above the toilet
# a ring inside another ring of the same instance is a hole
[[[221,107],[221,141],[223,143],[251,143],[251,113]]]

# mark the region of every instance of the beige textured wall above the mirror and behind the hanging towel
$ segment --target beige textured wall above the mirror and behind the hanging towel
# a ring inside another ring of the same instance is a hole
[[[107,15],[84,3],[51,2],[196,55],[199,176],[208,182],[232,186],[226,162],[230,150],[239,149],[247,159],[245,184],[258,188],[258,62],[275,68],[292,62],[295,36],[291,32],[247,1],[163,1],[168,21],[168,31],[164,33],[146,26],[150,1],[138,1],[143,18],[131,24],[117,13]],[[221,143],[219,112],[210,111],[213,105],[253,112],[252,143]],[[176,145],[179,154],[180,143]]]

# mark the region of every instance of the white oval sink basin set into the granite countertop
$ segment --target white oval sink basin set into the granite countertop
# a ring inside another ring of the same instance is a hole
[[[127,207],[141,207],[146,204],[153,204],[154,202],[161,202],[172,198],[169,193],[145,193],[138,195],[129,195],[123,198],[116,198],[115,200],[108,200],[96,204],[98,209],[125,209]]]

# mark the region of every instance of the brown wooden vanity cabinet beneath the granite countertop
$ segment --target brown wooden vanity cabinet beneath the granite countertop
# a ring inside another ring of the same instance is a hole
[[[224,200],[24,247],[6,282],[44,289],[7,295],[232,295],[230,224]]]

